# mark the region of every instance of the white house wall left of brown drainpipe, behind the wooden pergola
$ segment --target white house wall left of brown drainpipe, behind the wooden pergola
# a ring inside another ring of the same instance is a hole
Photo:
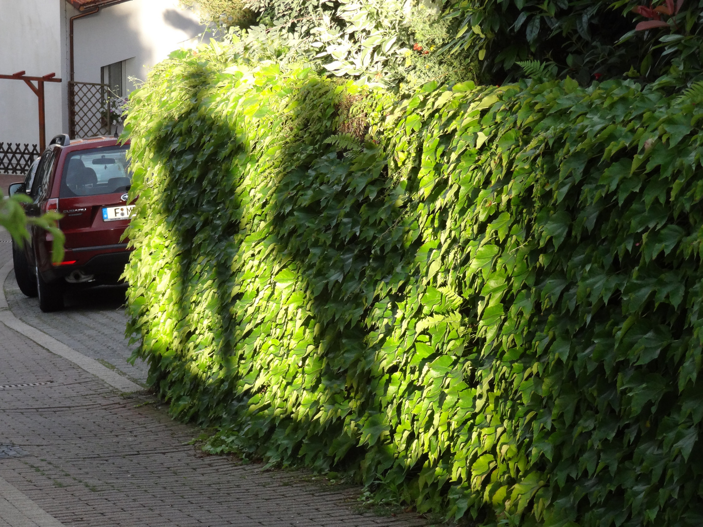
[[[41,77],[62,70],[60,11],[64,0],[0,0],[0,74]],[[35,83],[36,84],[36,83]],[[65,88],[46,82],[47,142],[64,130]],[[0,141],[39,143],[37,96],[22,81],[0,79]]]

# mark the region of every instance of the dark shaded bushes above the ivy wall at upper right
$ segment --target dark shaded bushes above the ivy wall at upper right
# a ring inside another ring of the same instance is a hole
[[[671,2],[674,4],[674,2]],[[460,29],[447,49],[468,50],[482,60],[486,82],[522,77],[519,61],[553,65],[559,77],[582,85],[593,79],[637,78],[682,86],[703,69],[701,0],[683,0],[676,15],[657,14],[668,26],[636,31],[648,20],[631,12],[640,0],[453,0],[449,18]],[[678,4],[678,1],[676,1]],[[664,8],[655,1],[652,8]]]

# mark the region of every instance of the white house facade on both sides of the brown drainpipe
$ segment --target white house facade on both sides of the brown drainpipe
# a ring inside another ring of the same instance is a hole
[[[56,72],[46,83],[46,137],[67,133],[70,18],[66,0],[0,0],[0,74]],[[75,80],[101,82],[101,67],[124,61],[125,91],[171,51],[191,46],[205,31],[178,0],[125,0],[74,22]],[[206,37],[207,41],[207,37]],[[131,79],[138,79],[132,81]],[[0,79],[0,141],[38,143],[37,96],[24,82]]]

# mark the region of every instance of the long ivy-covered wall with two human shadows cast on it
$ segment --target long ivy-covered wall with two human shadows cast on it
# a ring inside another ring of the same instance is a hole
[[[127,126],[150,382],[420,511],[702,524],[702,101],[174,55]]]

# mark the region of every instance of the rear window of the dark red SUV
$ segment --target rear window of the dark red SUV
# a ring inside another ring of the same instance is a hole
[[[127,145],[72,152],[66,158],[59,197],[127,192],[131,173]]]

